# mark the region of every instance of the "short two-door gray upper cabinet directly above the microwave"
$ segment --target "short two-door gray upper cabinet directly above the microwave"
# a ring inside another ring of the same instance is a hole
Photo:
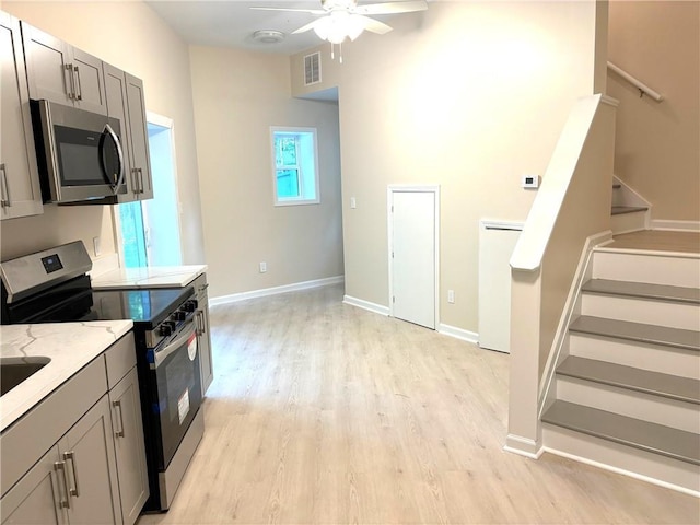
[[[31,98],[107,114],[102,60],[22,22]]]

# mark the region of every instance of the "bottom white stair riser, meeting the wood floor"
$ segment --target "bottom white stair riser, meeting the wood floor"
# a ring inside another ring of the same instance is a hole
[[[697,465],[547,423],[542,424],[542,443],[549,452],[557,451],[573,459],[615,469],[620,474],[691,492],[693,495],[700,493]]]

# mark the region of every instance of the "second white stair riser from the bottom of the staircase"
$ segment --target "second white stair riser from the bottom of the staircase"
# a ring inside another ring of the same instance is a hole
[[[700,406],[690,402],[559,375],[557,399],[700,434]]]

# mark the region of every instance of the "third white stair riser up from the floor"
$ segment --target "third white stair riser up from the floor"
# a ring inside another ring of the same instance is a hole
[[[569,353],[700,380],[700,354],[690,350],[570,332]]]

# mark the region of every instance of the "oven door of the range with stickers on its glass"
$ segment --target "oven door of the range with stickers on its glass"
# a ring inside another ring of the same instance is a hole
[[[194,317],[153,352],[151,406],[160,434],[158,467],[165,470],[201,405],[199,349]]]

